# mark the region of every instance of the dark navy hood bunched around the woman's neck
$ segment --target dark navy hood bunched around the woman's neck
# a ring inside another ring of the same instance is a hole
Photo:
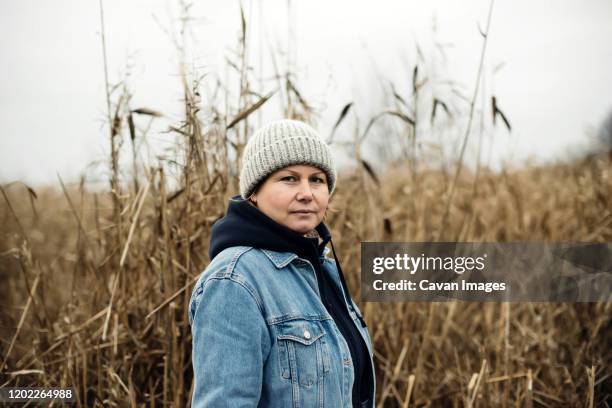
[[[212,228],[209,256],[212,260],[221,251],[233,246],[251,246],[277,252],[292,252],[303,258],[323,254],[331,234],[324,223],[316,227],[323,241],[303,235],[277,223],[240,196],[229,201],[227,214]]]

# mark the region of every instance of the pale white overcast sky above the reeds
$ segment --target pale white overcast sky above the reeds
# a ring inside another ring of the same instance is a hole
[[[270,49],[284,51],[290,33],[298,85],[326,133],[349,101],[363,115],[384,107],[378,95],[386,80],[409,96],[416,44],[426,74],[438,79],[434,89],[448,91],[448,79],[471,95],[482,45],[478,25],[485,26],[490,3],[309,0],[291,2],[291,13],[286,0],[243,4],[255,74],[270,72]],[[99,3],[22,0],[0,7],[0,181],[74,178],[108,151]],[[104,1],[104,11],[110,80],[129,71],[133,107],[160,110],[168,123],[180,119],[176,52],[164,33],[176,22],[177,2]],[[191,65],[223,76],[238,39],[239,3],[199,1],[191,14],[201,18]],[[584,144],[612,110],[610,72],[611,1],[497,0],[485,90],[497,97],[513,132],[495,131],[494,160],[555,159]],[[274,116],[279,102],[269,104],[266,114]],[[354,127],[343,126],[349,133]],[[151,140],[163,145],[168,136],[156,131]]]

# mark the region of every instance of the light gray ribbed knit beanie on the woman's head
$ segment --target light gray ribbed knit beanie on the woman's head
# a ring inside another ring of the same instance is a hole
[[[329,193],[336,184],[336,168],[329,146],[309,125],[279,120],[257,130],[242,154],[240,195],[247,199],[271,173],[294,164],[310,164],[327,174]]]

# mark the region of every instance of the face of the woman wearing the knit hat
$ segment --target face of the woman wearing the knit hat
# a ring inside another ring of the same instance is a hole
[[[306,234],[319,225],[327,210],[327,175],[309,165],[284,167],[268,176],[251,200],[274,221]]]

